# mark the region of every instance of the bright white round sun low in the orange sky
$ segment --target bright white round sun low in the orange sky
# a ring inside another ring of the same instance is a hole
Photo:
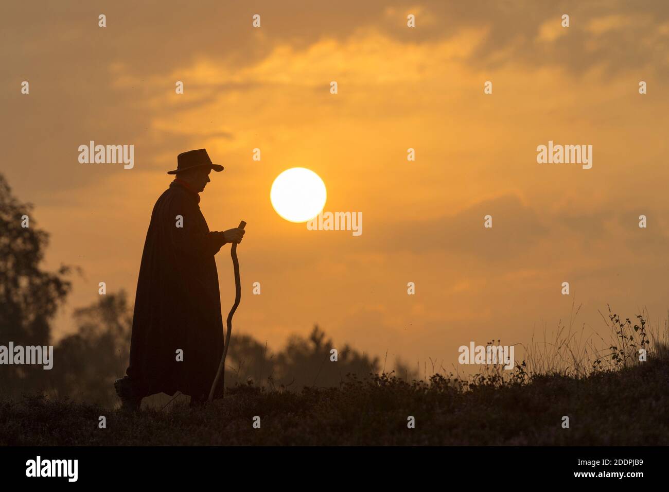
[[[287,169],[274,179],[270,200],[276,213],[290,222],[306,222],[325,206],[325,183],[304,167]]]

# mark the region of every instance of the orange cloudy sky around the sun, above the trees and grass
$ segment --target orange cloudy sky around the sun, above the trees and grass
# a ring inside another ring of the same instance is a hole
[[[100,281],[134,297],[165,172],[202,147],[225,165],[202,195],[209,227],[248,222],[235,332],[270,346],[318,323],[342,345],[448,366],[470,341],[553,329],[574,295],[588,329],[605,332],[607,303],[664,318],[669,5],[444,4],[3,6],[0,171],[52,235],[46,266],[84,270],[57,335]],[[134,168],[80,164],[91,140],[134,145]],[[592,169],[538,164],[549,140],[593,145]],[[324,180],[325,210],[363,212],[361,236],[272,210],[272,181],[298,166]],[[217,264],[227,313],[228,246]]]

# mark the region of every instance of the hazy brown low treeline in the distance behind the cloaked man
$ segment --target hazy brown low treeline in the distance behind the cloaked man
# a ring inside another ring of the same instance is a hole
[[[30,378],[5,380],[10,394],[43,393],[113,406],[117,399],[114,380],[128,366],[132,306],[126,293],[107,294],[100,301],[74,312],[77,331],[54,347],[54,367],[29,367]],[[189,329],[189,327],[184,327]],[[337,348],[337,362],[330,351]],[[6,367],[5,367],[6,368]],[[348,345],[335,347],[318,326],[308,337],[293,335],[280,351],[272,351],[249,335],[232,336],[226,367],[226,386],[266,386],[271,390],[296,390],[304,386],[339,386],[347,374],[365,378],[380,370],[378,357],[371,358]],[[401,375],[413,377],[405,367]],[[4,379],[4,378],[3,378]],[[164,401],[161,399],[159,401]]]

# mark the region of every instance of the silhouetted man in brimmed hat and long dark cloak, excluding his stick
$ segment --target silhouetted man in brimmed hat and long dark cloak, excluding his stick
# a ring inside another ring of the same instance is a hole
[[[205,402],[223,353],[223,319],[214,255],[244,230],[210,232],[198,205],[209,181],[205,149],[177,157],[175,180],[153,208],[142,252],[132,319],[130,365],[114,388],[123,408],[180,391]],[[219,391],[222,388],[217,388]]]

